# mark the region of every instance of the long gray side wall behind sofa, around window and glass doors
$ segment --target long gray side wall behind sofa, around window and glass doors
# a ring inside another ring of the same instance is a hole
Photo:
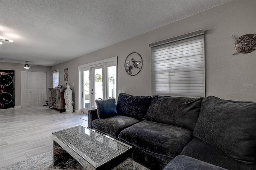
[[[78,66],[114,56],[118,56],[118,93],[150,95],[151,49],[149,44],[204,29],[206,96],[213,95],[227,100],[256,101],[256,87],[249,85],[256,84],[256,51],[232,55],[236,52],[235,41],[230,39],[231,34],[240,37],[244,34],[256,33],[255,8],[256,1],[231,1],[58,64],[53,66],[52,70],[60,69],[60,82],[64,84],[64,68],[68,68],[68,84],[74,92],[74,109],[78,109]],[[136,76],[129,76],[124,70],[124,60],[131,52],[138,52],[143,58],[143,68]]]

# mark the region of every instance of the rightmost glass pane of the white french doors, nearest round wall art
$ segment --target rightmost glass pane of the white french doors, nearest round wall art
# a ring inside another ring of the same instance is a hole
[[[108,99],[116,99],[116,66],[108,66]]]

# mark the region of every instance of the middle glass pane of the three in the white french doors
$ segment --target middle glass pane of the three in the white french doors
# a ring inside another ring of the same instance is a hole
[[[94,70],[95,100],[103,100],[102,68]],[[96,106],[96,105],[95,105]]]

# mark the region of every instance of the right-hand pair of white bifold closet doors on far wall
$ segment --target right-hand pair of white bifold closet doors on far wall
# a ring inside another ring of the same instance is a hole
[[[34,72],[34,101],[35,106],[45,104],[46,72]]]

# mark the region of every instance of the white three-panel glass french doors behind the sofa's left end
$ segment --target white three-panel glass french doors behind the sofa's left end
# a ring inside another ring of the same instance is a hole
[[[82,68],[82,111],[95,108],[95,100],[116,98],[116,62]]]

